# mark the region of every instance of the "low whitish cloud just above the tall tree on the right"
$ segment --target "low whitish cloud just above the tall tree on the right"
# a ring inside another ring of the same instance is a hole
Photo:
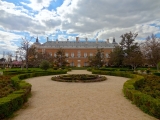
[[[113,28],[113,29],[104,29],[99,32],[98,38],[102,40],[110,39],[110,42],[112,42],[113,37],[116,38],[116,42],[120,42],[121,38],[120,36],[122,34],[128,33],[138,33],[137,40],[145,39],[147,36],[153,34],[160,33],[160,28],[156,26],[150,26],[150,24],[137,24],[135,26],[129,27],[129,28]]]

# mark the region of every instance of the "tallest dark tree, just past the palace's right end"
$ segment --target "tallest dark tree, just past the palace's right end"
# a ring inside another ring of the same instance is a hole
[[[142,64],[142,53],[140,47],[135,39],[138,33],[125,33],[121,35],[120,46],[123,50],[123,64],[132,66],[133,69],[136,69],[138,65]]]

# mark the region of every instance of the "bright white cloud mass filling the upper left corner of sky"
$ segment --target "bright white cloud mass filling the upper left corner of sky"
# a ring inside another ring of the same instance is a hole
[[[0,1],[0,5],[0,28],[5,30],[45,35],[55,31],[61,24],[55,11],[43,9],[33,16],[27,9],[13,3]]]

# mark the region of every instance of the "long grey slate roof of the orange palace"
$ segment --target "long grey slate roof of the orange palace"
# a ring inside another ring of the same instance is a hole
[[[107,43],[105,41],[47,41],[41,45],[39,48],[114,48],[115,43]]]

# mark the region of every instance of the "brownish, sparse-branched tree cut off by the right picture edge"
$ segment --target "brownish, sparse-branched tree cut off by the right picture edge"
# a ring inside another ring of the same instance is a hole
[[[146,41],[142,43],[143,55],[148,64],[157,67],[160,62],[160,38],[157,38],[154,34],[148,36]]]

